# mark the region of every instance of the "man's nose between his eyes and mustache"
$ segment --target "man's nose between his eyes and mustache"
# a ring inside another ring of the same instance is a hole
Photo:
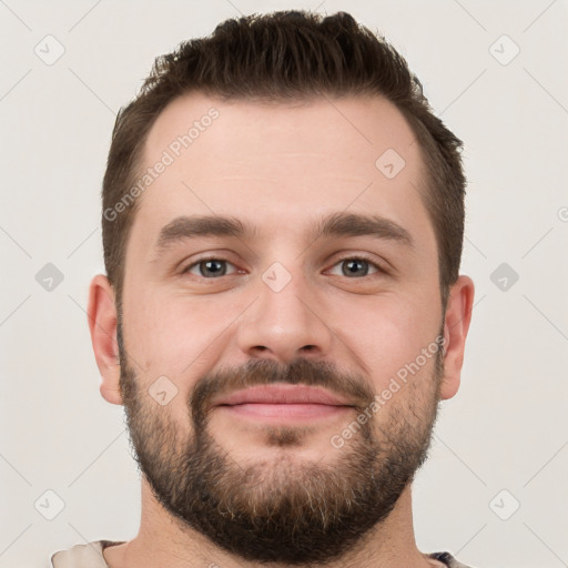
[[[287,364],[296,357],[329,357],[336,336],[326,321],[325,303],[301,274],[276,265],[258,278],[255,292],[237,331],[239,347],[248,358]]]

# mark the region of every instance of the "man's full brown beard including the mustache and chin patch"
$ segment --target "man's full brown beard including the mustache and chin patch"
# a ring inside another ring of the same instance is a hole
[[[185,435],[186,425],[181,428],[168,406],[148,396],[148,387],[141,389],[123,348],[120,318],[118,344],[131,446],[155,499],[182,530],[192,528],[241,559],[298,566],[353,552],[388,517],[427,458],[444,374],[442,349],[429,376],[409,381],[400,389],[409,392],[394,394],[378,416],[357,423],[358,432],[343,447],[329,443],[332,459],[314,463],[293,455],[294,447],[308,445],[308,427],[266,425],[265,445],[283,448],[282,454],[243,464],[207,429],[214,395],[274,383],[321,386],[362,402],[346,427],[375,393],[363,377],[338,373],[328,363],[250,359],[196,381],[187,399],[192,432]]]

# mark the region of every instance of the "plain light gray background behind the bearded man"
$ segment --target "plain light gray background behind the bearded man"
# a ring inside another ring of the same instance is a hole
[[[343,9],[383,32],[466,143],[462,273],[476,305],[462,388],[415,483],[419,548],[476,568],[568,566],[568,4],[317,2],[0,0],[0,566],[47,567],[55,550],[136,534],[139,475],[122,407],[99,393],[85,315],[104,272],[115,113],[155,55],[285,8]],[[51,65],[34,52],[55,52],[48,34],[65,50]],[[47,263],[63,275],[52,291],[36,280]],[[491,281],[501,263],[519,275],[505,291]],[[47,490],[64,503],[53,520]]]

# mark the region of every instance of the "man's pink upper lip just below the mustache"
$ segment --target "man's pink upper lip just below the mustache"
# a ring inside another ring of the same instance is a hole
[[[241,404],[321,404],[326,406],[352,406],[351,402],[329,390],[305,385],[266,385],[236,390],[213,402],[214,406]]]

